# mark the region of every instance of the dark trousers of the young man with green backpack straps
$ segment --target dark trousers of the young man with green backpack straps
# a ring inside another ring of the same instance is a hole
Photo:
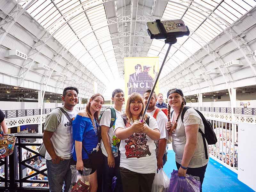
[[[112,178],[116,176],[116,187],[114,192],[123,192],[122,180],[119,171],[120,165],[120,156],[115,157],[115,167],[109,168],[108,166],[108,157],[103,155],[104,164],[103,164],[103,174],[102,174],[102,191],[103,192],[112,192]]]

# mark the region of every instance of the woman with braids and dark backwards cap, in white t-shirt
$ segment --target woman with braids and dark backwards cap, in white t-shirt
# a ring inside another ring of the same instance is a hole
[[[198,133],[199,128],[204,132],[202,118],[195,109],[189,108],[185,112],[182,122],[181,113],[186,101],[180,89],[170,89],[167,92],[167,98],[169,117],[166,128],[172,134],[172,148],[175,152],[178,174],[185,177],[188,173],[199,177],[201,182],[200,191],[202,192],[204,174],[209,161],[205,158],[203,138]],[[172,116],[170,116],[171,107],[174,110]]]

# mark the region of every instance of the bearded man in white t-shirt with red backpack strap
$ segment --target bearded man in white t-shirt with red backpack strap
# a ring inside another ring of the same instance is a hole
[[[150,95],[151,89],[148,89],[143,94],[143,100],[145,105],[147,105],[148,97]],[[164,164],[167,161],[167,154],[166,154],[166,142],[168,140],[168,131],[165,128],[165,124],[168,121],[167,116],[164,114],[162,110],[160,110],[157,114],[156,110],[156,93],[153,92],[153,95],[151,97],[151,100],[149,101],[147,114],[149,116],[156,118],[156,123],[158,125],[159,131],[160,131],[160,139],[159,141],[155,141],[156,143],[156,159],[157,159],[157,168],[161,169],[164,167]]]

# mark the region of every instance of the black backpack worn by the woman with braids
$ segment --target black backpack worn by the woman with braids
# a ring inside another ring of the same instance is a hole
[[[183,123],[183,118],[184,118],[184,114],[185,112],[189,109],[190,107],[188,106],[185,106],[182,110],[182,113],[181,113],[181,120],[182,120],[182,123]],[[196,110],[196,109],[195,109]],[[204,142],[204,152],[205,152],[205,159],[208,159],[208,153],[207,153],[207,147],[206,147],[206,142],[205,142],[205,139],[207,140],[207,143],[208,145],[213,145],[215,143],[217,143],[217,137],[216,137],[216,134],[215,132],[213,131],[213,128],[212,128],[212,124],[210,121],[207,121],[204,117],[204,115],[196,110],[196,112],[200,115],[200,117],[202,118],[202,121],[203,121],[203,124],[204,124],[204,133],[203,131],[199,128],[198,129],[198,132],[201,133],[202,135],[202,138],[203,138],[203,142]],[[173,113],[173,111],[172,111]],[[171,113],[171,116],[172,116],[172,113]]]

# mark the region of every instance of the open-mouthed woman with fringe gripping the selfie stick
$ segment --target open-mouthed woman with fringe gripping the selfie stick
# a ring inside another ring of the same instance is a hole
[[[156,120],[145,115],[139,93],[127,100],[125,114],[116,119],[114,134],[121,140],[120,174],[124,192],[151,192],[157,169],[156,144],[160,132]],[[125,123],[126,122],[126,123]]]

